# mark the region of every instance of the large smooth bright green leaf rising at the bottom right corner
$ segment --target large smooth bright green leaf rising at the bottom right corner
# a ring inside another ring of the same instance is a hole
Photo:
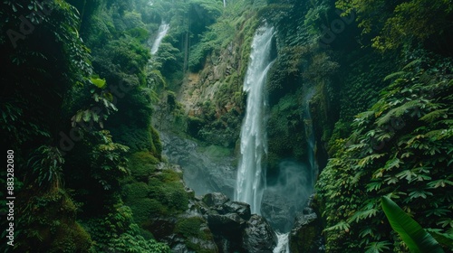
[[[389,197],[382,197],[382,210],[390,222],[391,228],[398,232],[412,253],[444,252],[438,241],[429,232],[423,230],[417,221],[402,211]]]

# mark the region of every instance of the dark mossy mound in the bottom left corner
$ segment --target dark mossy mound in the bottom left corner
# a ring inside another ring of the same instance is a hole
[[[16,251],[88,252],[92,247],[90,235],[75,221],[74,202],[63,190],[36,193],[29,186],[17,206],[14,217],[21,226],[14,231]]]

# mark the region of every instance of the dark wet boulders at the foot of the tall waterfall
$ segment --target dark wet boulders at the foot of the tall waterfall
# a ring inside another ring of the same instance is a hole
[[[229,201],[221,193],[208,193],[201,200],[219,252],[272,253],[275,232],[265,218],[251,214],[249,204]]]

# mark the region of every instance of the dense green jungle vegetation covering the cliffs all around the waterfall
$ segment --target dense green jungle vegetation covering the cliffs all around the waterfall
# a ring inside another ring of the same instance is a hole
[[[1,5],[4,161],[14,152],[14,175],[0,172],[2,189],[14,185],[0,191],[4,228],[15,197],[14,246],[2,230],[1,250],[223,252],[204,246],[215,240],[207,220],[188,216],[197,199],[162,155],[160,133],[237,154],[251,42],[264,23],[276,31],[267,181],[280,161],[306,159],[308,103],[323,250],[409,252],[383,196],[453,250],[451,0]],[[151,55],[161,23],[169,33]]]

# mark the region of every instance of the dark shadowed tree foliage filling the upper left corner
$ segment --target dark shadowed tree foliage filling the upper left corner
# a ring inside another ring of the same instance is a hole
[[[4,5],[0,27],[5,33],[0,35],[0,44],[5,57],[0,76],[9,85],[1,92],[1,128],[7,131],[6,142],[23,145],[30,141],[33,149],[49,142],[61,126],[61,118],[55,116],[60,115],[66,90],[87,82],[92,73],[90,51],[79,37],[80,20],[72,5],[64,1],[42,5],[5,1]],[[48,10],[52,15],[43,14]],[[25,17],[23,34],[19,24]],[[10,38],[7,31],[16,36]]]

